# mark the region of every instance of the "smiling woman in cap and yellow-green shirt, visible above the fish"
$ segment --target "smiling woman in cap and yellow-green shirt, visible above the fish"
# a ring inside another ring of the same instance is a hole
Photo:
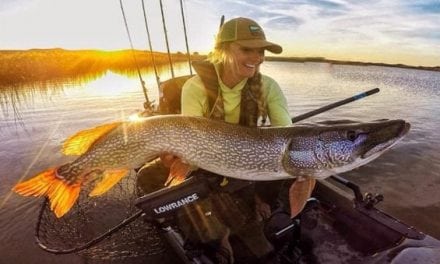
[[[248,126],[257,125],[256,117],[264,121],[267,115],[273,126],[291,125],[286,98],[279,85],[259,72],[265,50],[282,52],[279,45],[266,41],[262,28],[255,21],[240,17],[223,24],[215,48],[208,56],[215,69],[215,76],[211,77],[218,80],[215,103],[209,105],[208,87],[198,72],[183,86],[182,114]],[[195,68],[197,71],[196,65]],[[257,115],[241,111],[252,109],[242,102],[256,104]]]

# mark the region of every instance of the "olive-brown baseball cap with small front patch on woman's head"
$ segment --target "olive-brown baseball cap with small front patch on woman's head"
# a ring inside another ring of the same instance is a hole
[[[221,26],[216,39],[216,47],[229,41],[247,48],[264,48],[276,54],[283,51],[280,45],[266,40],[263,29],[257,22],[244,17],[231,19]]]

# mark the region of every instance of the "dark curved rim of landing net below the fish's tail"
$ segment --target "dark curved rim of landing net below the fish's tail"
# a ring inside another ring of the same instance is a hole
[[[53,253],[53,254],[70,254],[70,253],[76,253],[81,250],[90,248],[90,247],[96,245],[97,243],[101,242],[102,240],[104,240],[108,236],[112,235],[113,233],[117,232],[119,229],[130,224],[131,222],[133,222],[134,220],[136,220],[139,216],[141,216],[143,214],[142,210],[136,211],[134,214],[125,218],[119,224],[117,224],[114,227],[112,227],[111,229],[109,229],[107,232],[95,237],[94,239],[90,240],[89,242],[83,244],[82,246],[68,248],[68,249],[54,249],[54,248],[51,248],[51,247],[45,245],[40,239],[41,219],[43,217],[44,209],[46,208],[47,203],[48,203],[48,199],[46,198],[46,199],[44,199],[44,201],[41,205],[41,208],[40,208],[40,212],[38,214],[38,221],[37,221],[37,225],[35,227],[35,240],[40,248],[42,248],[43,250],[45,250],[49,253]]]

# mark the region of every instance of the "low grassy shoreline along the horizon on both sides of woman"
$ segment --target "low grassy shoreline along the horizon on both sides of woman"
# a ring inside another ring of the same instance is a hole
[[[107,70],[120,73],[135,72],[137,68],[153,67],[153,59],[158,67],[188,61],[182,52],[150,52],[146,50],[66,50],[29,49],[0,50],[0,86],[11,83],[44,82],[48,80],[69,79],[84,76],[99,76]],[[193,52],[192,60],[203,60],[206,55]],[[360,61],[331,60],[324,57],[274,57],[266,56],[267,61],[279,62],[317,62],[335,65],[381,66],[403,69],[416,69],[440,72],[440,66],[412,66],[404,64],[373,63]]]

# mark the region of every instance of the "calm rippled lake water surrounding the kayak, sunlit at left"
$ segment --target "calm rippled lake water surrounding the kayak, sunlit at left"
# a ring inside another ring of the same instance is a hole
[[[177,75],[187,74],[185,65]],[[327,63],[266,62],[262,72],[282,87],[292,116],[375,87],[380,93],[308,121],[402,118],[411,131],[388,153],[343,176],[363,191],[381,193],[387,213],[440,238],[440,72]],[[150,99],[155,78],[145,73]],[[161,73],[162,80],[169,78]],[[62,141],[78,130],[125,119],[142,110],[136,76],[107,72],[96,79],[32,84],[2,89],[0,101],[0,263],[78,263],[75,255],[55,256],[33,241],[41,200],[10,192],[19,180],[69,160]],[[25,253],[25,254],[23,254]],[[38,260],[37,260],[38,259]]]

